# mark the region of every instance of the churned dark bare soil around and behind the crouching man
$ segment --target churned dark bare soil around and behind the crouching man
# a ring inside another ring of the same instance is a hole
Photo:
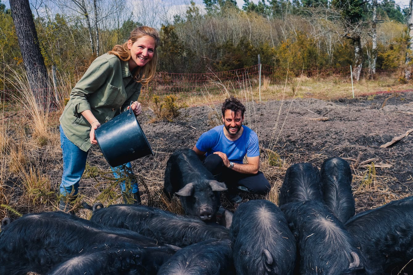
[[[244,102],[248,107],[246,124],[259,135],[261,171],[273,186],[270,199],[277,203],[279,187],[290,165],[310,162],[320,167],[331,156],[346,159],[353,169],[356,212],[410,196],[413,192],[413,133],[387,148],[380,146],[413,128],[412,91],[332,101],[296,98]],[[199,105],[180,109],[180,116],[174,121],[153,122],[154,114],[150,110],[138,117],[155,153],[132,162],[135,174],[141,179],[143,204],[178,212],[165,203],[161,194],[166,161],[177,148],[192,148],[202,133],[216,126],[215,110],[220,111],[220,108],[221,102],[212,108]],[[51,178],[51,188],[57,194],[62,156],[59,147],[55,147],[56,155],[38,150],[36,158],[46,164],[42,173]],[[97,146],[92,147],[88,164],[98,172],[91,173],[88,168],[79,190],[84,200],[93,203],[110,184],[111,174]],[[30,203],[22,202],[21,186],[17,178],[9,178],[5,183],[8,203],[20,213],[57,209],[57,203],[47,209],[30,208]],[[244,201],[263,198],[242,192],[240,195]],[[223,204],[229,209],[236,207],[224,197]],[[85,210],[79,211],[82,214]],[[8,214],[12,215],[11,212]]]

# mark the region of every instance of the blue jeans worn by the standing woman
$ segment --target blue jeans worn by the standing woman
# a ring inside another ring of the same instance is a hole
[[[63,133],[62,126],[59,126],[59,128],[60,147],[62,148],[63,154],[63,175],[62,183],[60,184],[60,194],[62,194],[63,196],[66,196],[68,194],[76,195],[79,189],[79,181],[83,175],[83,172],[85,171],[88,152],[85,152],[74,145],[74,143],[71,142]],[[113,175],[115,178],[124,178],[127,177],[128,174],[133,174],[130,162],[125,165],[111,167],[111,169],[112,171],[114,171]],[[119,183],[122,192],[126,192],[125,182],[126,180],[123,180],[121,183]],[[131,186],[132,193],[139,192],[138,184],[135,180],[131,181]]]

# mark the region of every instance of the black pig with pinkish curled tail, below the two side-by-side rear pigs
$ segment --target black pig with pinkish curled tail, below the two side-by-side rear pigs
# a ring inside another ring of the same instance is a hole
[[[373,274],[358,242],[322,202],[292,202],[280,209],[297,241],[299,274]]]

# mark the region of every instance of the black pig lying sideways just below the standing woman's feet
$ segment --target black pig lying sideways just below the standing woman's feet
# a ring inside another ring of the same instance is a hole
[[[95,209],[90,220],[133,230],[161,243],[178,247],[207,239],[229,239],[229,230],[222,225],[206,224],[196,217],[138,204],[115,204]]]

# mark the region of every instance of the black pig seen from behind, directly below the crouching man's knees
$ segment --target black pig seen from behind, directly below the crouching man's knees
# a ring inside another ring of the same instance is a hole
[[[230,234],[237,274],[292,274],[294,236],[280,209],[270,201],[244,202],[234,213]]]

